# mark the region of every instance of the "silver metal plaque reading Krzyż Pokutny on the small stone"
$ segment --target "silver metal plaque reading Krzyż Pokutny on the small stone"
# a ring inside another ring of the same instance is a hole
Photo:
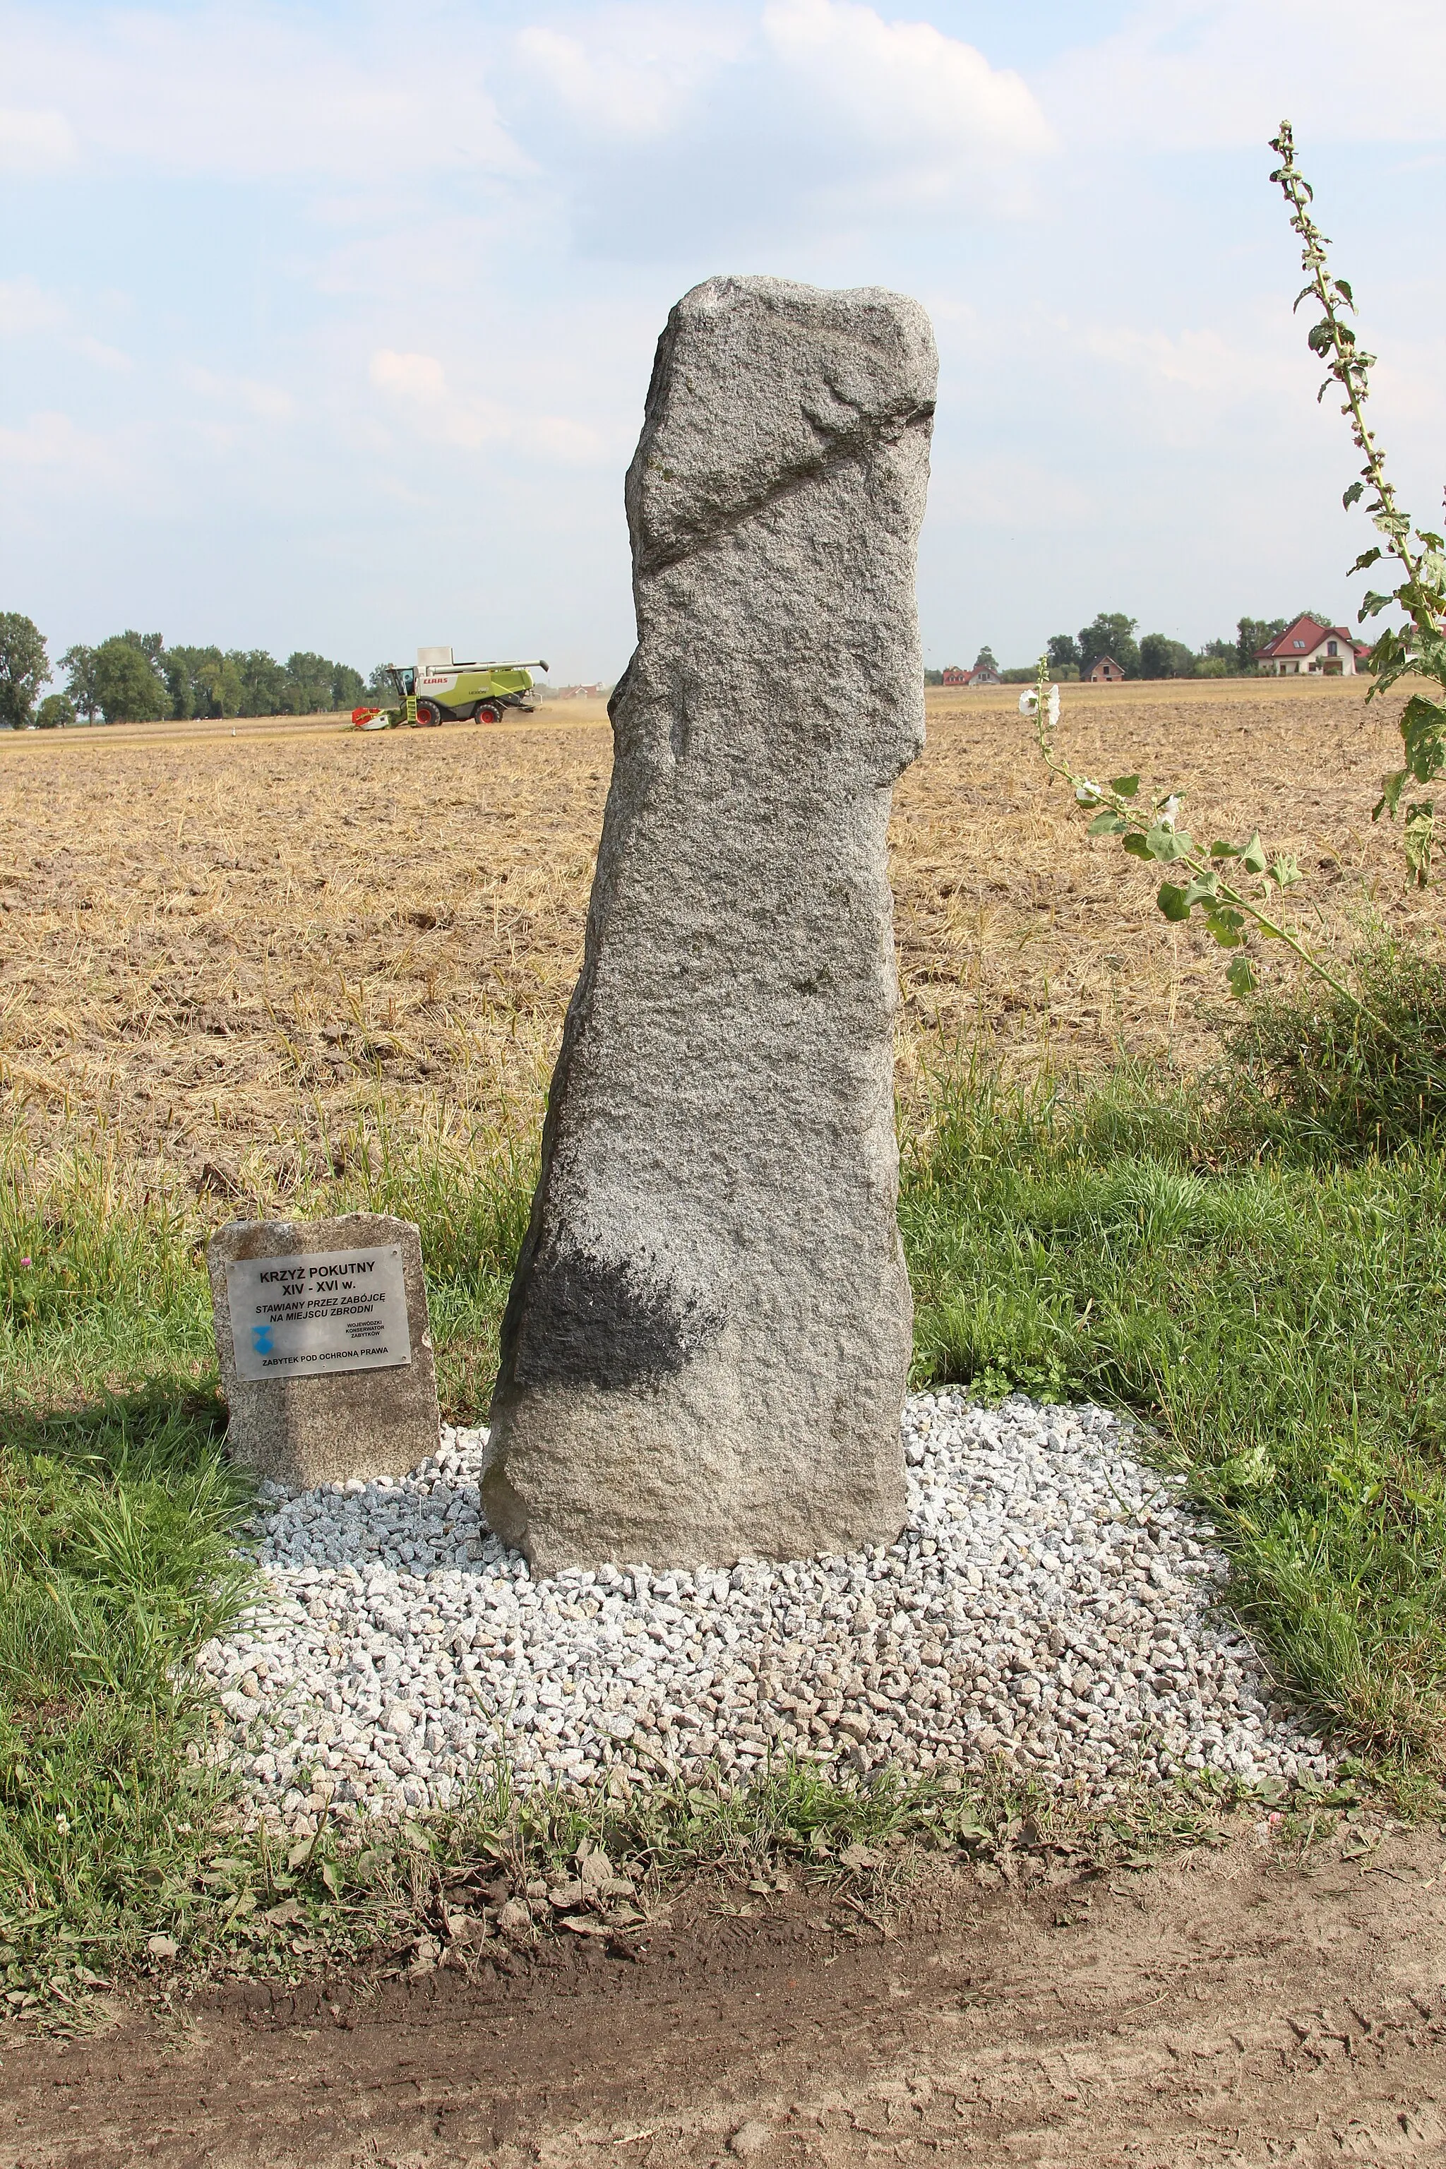
[[[236,1377],[321,1377],[412,1362],[397,1245],[234,1258],[225,1267]]]

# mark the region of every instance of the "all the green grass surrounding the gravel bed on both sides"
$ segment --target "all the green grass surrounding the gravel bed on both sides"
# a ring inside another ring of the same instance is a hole
[[[1435,1058],[1439,978],[1403,978],[1390,957],[1368,972]],[[900,1208],[915,1375],[1145,1419],[1147,1451],[1188,1473],[1221,1529],[1231,1601],[1279,1679],[1377,1772],[1426,1787],[1446,1681],[1437,1111],[1381,1087],[1333,1013],[1262,1006],[1244,1030],[1216,1089],[1127,1065],[1073,1091],[969,1063],[932,1080]],[[1431,1074],[1411,1063],[1394,1074]],[[444,1410],[475,1419],[531,1137],[403,1141],[379,1100],[325,1165],[291,1210],[421,1223]],[[156,1935],[197,1965],[401,1950],[468,1878],[525,1889],[529,1861],[561,1874],[581,1844],[653,1887],[696,1870],[826,1883],[850,1846],[880,1874],[904,1841],[1008,1846],[1021,1815],[1049,1820],[1043,1802],[863,1794],[789,1770],[744,1796],[661,1787],[581,1807],[514,1800],[501,1772],[429,1831],[360,1852],[323,1831],[273,1857],[228,1805],[186,1672],[245,1599],[206,1210],[191,1191],[128,1186],[98,1154],[46,1171],[20,1137],[0,1154],[0,1967],[15,2002],[72,1995],[98,1965],[145,1967]]]

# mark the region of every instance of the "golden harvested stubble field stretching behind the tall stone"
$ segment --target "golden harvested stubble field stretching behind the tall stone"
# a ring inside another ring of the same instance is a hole
[[[1067,688],[1090,772],[1179,783],[1197,833],[1301,857],[1322,948],[1439,935],[1370,805],[1400,694],[1351,681]],[[1218,952],[1049,790],[1017,692],[930,692],[893,881],[900,1084],[986,1032],[1015,1067],[1119,1050],[1190,1067]],[[531,1126],[581,961],[601,703],[490,733],[336,720],[150,724],[0,744],[0,1089],[48,1143],[219,1195],[286,1195],[360,1119]],[[1270,954],[1275,965],[1275,954]]]

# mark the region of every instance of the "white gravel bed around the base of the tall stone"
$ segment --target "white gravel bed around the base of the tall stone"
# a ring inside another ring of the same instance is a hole
[[[924,1392],[904,1451],[898,1544],[696,1573],[533,1579],[481,1518],[486,1432],[444,1432],[395,1484],[271,1486],[267,1596],[197,1659],[223,1750],[293,1828],[327,1802],[455,1807],[503,1766],[598,1785],[741,1781],[770,1755],[832,1776],[1008,1757],[1093,1800],[1201,1770],[1329,1774],[1212,1609],[1212,1531],[1108,1410]]]

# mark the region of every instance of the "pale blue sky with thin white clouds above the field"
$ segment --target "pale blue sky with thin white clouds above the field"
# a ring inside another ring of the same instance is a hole
[[[1435,518],[1439,0],[0,0],[0,609],[614,679],[657,334],[770,271],[932,315],[928,664],[1344,618],[1281,115]]]

